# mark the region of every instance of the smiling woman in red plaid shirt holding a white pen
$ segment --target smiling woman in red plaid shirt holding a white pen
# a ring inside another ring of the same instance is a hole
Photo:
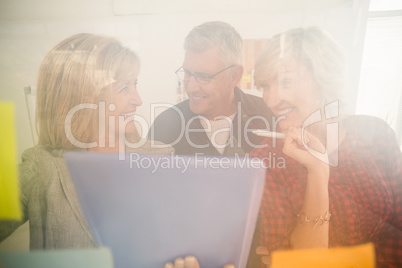
[[[267,172],[260,244],[373,242],[378,267],[402,267],[401,150],[384,121],[342,113],[344,70],[342,50],[317,27],[274,36],[256,63],[273,127],[286,133],[250,153],[285,159]]]

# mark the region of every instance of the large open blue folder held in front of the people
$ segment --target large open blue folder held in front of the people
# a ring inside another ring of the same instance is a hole
[[[95,240],[115,267],[246,266],[266,169],[258,159],[70,152],[71,178]]]

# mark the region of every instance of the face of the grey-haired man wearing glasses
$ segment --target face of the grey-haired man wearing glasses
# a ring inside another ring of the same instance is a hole
[[[227,68],[219,53],[219,47],[213,46],[201,53],[186,51],[183,69],[191,73],[214,75]],[[236,67],[236,66],[235,66]],[[197,82],[194,76],[184,81],[184,87],[193,113],[214,119],[229,116],[236,111],[234,87],[238,79],[236,68],[219,73],[207,84]]]

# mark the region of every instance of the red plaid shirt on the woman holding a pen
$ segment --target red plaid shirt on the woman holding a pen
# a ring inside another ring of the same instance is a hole
[[[402,267],[402,155],[395,134],[368,116],[351,116],[344,127],[338,165],[330,167],[329,246],[373,242],[378,267]],[[270,147],[250,152],[271,167],[261,204],[260,242],[270,251],[286,249],[303,206],[307,172],[282,153],[282,141],[276,140],[275,147],[272,139],[263,142]]]

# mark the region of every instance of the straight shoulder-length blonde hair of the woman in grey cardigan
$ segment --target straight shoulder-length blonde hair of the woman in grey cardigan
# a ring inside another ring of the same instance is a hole
[[[38,143],[77,149],[64,127],[77,105],[99,102],[100,95],[127,71],[139,71],[139,58],[113,37],[81,33],[57,44],[45,57],[37,83]],[[93,142],[98,133],[98,111],[81,109],[71,121],[74,138]]]

